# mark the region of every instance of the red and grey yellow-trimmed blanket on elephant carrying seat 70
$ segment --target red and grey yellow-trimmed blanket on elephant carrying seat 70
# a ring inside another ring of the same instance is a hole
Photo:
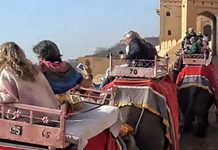
[[[168,78],[162,81],[146,79],[115,79],[105,86],[115,92],[115,105],[134,105],[163,118],[166,138],[173,149],[179,149],[179,118],[176,85]]]

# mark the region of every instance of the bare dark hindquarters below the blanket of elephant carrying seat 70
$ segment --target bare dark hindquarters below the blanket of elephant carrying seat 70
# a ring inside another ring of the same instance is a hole
[[[123,107],[120,110],[125,123],[135,129],[133,133],[135,143],[130,134],[122,138],[127,145],[127,149],[166,149],[169,142],[165,137],[166,127],[163,125],[160,116],[155,115],[147,109],[142,113],[141,109],[133,106]],[[139,118],[141,118],[140,121]]]

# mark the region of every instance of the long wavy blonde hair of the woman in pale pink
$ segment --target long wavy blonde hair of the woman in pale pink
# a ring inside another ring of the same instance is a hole
[[[0,70],[4,68],[27,81],[35,81],[35,75],[39,73],[38,67],[26,58],[23,50],[14,42],[0,46]]]

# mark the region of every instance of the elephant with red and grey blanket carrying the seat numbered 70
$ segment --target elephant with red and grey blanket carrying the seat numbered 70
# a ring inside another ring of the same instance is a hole
[[[128,150],[178,150],[176,86],[166,79],[115,79],[107,87],[121,110],[121,136]]]

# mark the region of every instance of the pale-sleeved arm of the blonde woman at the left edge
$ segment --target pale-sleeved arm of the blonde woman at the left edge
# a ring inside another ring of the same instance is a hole
[[[0,75],[0,103],[18,102],[18,89],[11,73],[2,71]]]

